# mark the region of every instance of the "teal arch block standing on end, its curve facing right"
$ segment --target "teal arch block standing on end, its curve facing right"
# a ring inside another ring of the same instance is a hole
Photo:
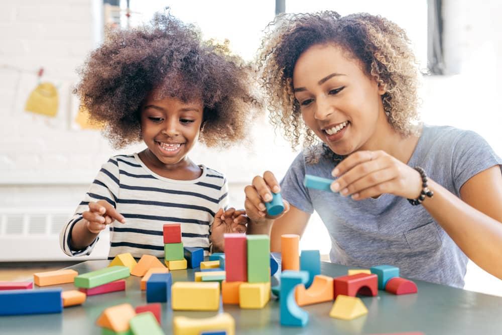
[[[283,271],[281,273],[281,289],[279,295],[280,320],[282,325],[305,326],[309,313],[300,308],[295,301],[295,287],[309,279],[306,271]]]

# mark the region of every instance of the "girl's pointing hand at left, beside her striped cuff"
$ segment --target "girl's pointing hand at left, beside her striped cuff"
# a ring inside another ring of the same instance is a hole
[[[87,229],[93,234],[98,234],[114,220],[118,220],[122,224],[126,223],[126,218],[105,200],[89,202],[89,210],[84,211],[82,217],[86,220]]]

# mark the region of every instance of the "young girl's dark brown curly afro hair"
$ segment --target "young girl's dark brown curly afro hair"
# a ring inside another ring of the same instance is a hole
[[[260,106],[249,88],[250,66],[169,11],[150,25],[109,32],[79,74],[74,92],[115,148],[141,141],[140,109],[153,89],[159,99],[202,100],[200,141],[209,147],[243,140]]]

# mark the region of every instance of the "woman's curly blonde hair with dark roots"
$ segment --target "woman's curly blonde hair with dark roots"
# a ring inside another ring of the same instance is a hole
[[[276,130],[282,130],[293,149],[302,138],[304,148],[319,147],[313,146],[319,139],[301,120],[300,105],[293,94],[293,69],[308,48],[330,43],[349,52],[361,62],[368,77],[385,87],[382,102],[392,127],[405,137],[416,134],[413,122],[419,119],[418,69],[403,29],[380,16],[365,13],[345,17],[331,11],[283,14],[265,30],[258,70],[259,83],[268,100],[270,122]]]

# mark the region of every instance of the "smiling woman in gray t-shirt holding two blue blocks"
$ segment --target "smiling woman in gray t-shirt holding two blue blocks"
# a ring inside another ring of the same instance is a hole
[[[473,132],[414,126],[417,70],[401,28],[367,14],[284,15],[259,59],[272,122],[306,149],[280,185],[265,172],[245,188],[248,233],[270,233],[279,251],[315,210],[334,263],[462,287],[470,258],[502,278],[502,160]],[[335,178],[333,193],[306,188],[305,174]],[[287,200],[276,217],[271,191]]]

